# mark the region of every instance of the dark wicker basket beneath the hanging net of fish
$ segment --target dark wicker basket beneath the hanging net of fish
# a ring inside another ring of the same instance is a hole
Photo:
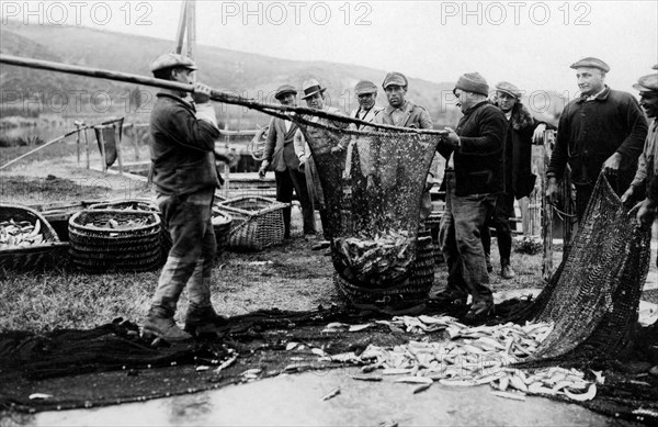
[[[434,283],[433,245],[428,231],[418,234],[416,260],[410,268],[410,278],[392,288],[370,289],[356,286],[338,273],[333,274],[333,284],[341,296],[359,308],[377,308],[392,312],[421,308],[427,302]]]

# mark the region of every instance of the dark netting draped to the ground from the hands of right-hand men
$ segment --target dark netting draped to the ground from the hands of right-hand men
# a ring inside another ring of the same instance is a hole
[[[530,360],[614,359],[627,353],[649,270],[650,233],[642,228],[603,175],[569,252],[515,318],[555,322]]]

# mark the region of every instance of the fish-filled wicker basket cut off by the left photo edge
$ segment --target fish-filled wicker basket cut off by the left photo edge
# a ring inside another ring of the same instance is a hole
[[[35,210],[0,204],[0,268],[34,270],[66,251],[50,224]]]

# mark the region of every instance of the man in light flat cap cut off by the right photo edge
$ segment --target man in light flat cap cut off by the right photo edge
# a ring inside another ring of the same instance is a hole
[[[622,202],[634,202],[644,196],[637,220],[650,229],[656,218],[658,206],[658,74],[640,77],[633,88],[639,91],[639,104],[654,121],[649,125],[649,132],[645,141],[644,149],[639,156],[637,172],[622,195]],[[646,189],[646,190],[645,190]]]

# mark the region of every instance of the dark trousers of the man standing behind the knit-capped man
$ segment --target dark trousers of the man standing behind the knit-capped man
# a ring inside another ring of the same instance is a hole
[[[491,216],[487,218],[483,228],[483,246],[485,248],[485,257],[491,257],[491,233],[489,227],[496,229],[498,239],[498,252],[500,254],[500,265],[510,263],[512,254],[512,228],[510,227],[510,213],[513,213],[514,196],[507,193],[499,193],[496,198],[496,207]]]

